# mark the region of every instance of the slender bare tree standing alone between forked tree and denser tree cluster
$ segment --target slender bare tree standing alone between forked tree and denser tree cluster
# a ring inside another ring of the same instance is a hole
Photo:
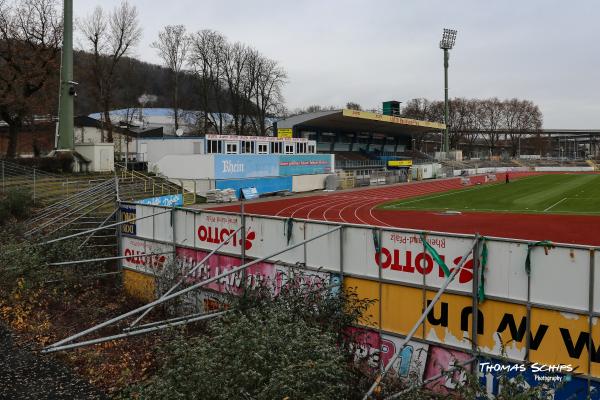
[[[173,79],[173,118],[175,130],[179,129],[179,75],[187,60],[190,40],[183,25],[168,25],[159,32],[158,40],[152,43],[158,50]]]

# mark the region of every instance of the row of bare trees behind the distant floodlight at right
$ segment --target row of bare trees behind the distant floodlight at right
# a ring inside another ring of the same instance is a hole
[[[542,128],[542,112],[529,100],[454,98],[448,103],[448,139],[452,149],[462,148],[472,153],[475,144],[483,141],[494,154],[500,145],[508,144],[514,157],[523,132],[536,132]],[[411,99],[401,113],[406,118],[444,122],[444,102]],[[416,135],[415,147],[421,150],[426,139]]]

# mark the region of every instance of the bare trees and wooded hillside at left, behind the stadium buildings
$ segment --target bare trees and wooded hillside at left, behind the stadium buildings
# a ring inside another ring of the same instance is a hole
[[[219,32],[164,27],[152,44],[164,64],[159,67],[131,57],[142,29],[137,8],[126,0],[112,10],[98,6],[75,27],[76,111],[99,111],[107,142],[115,122],[110,111],[148,99],[172,108],[176,128],[181,109],[199,110],[203,133],[264,135],[269,117],[283,109],[285,70]],[[0,119],[8,125],[8,157],[34,116],[57,114],[62,33],[58,0],[0,0]]]

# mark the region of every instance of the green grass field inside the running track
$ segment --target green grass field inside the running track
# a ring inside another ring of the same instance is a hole
[[[600,215],[600,175],[536,175],[383,204],[386,210]]]

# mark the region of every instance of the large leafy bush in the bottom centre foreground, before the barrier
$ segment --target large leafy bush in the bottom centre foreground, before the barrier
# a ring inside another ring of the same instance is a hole
[[[157,375],[128,395],[351,398],[356,371],[343,332],[371,302],[348,293],[297,284],[285,285],[277,297],[268,288],[247,290],[231,304],[235,311],[209,322],[207,335],[180,338],[164,349],[166,361]]]

